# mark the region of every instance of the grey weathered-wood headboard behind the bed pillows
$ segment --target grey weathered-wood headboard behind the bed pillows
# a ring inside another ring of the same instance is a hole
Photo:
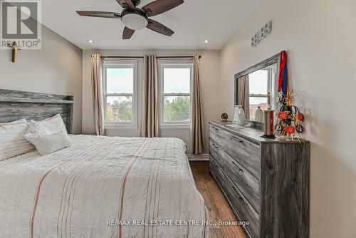
[[[68,133],[73,133],[73,103],[72,95],[0,89],[0,123],[22,118],[43,120],[59,113]]]

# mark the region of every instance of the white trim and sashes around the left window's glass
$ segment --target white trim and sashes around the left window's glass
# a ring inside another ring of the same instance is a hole
[[[134,78],[133,78],[133,93],[106,93],[107,85],[106,85],[106,69],[107,68],[131,68],[133,65],[134,69]],[[137,130],[138,129],[138,105],[137,105],[137,73],[138,68],[138,60],[126,60],[126,59],[111,59],[109,61],[104,61],[103,63],[103,86],[104,86],[104,120],[105,120],[105,129],[130,129]],[[106,97],[107,96],[123,96],[126,95],[132,96],[132,112],[134,114],[134,120],[132,123],[127,122],[108,122],[106,121]]]

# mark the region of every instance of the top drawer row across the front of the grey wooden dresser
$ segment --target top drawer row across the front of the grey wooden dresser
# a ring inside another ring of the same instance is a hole
[[[251,143],[229,131],[210,125],[209,137],[220,148],[223,148],[234,160],[244,165],[246,170],[259,179],[260,177],[260,146]]]

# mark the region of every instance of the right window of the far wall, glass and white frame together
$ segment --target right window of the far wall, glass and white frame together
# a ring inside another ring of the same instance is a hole
[[[161,128],[189,128],[192,105],[192,61],[160,61]]]

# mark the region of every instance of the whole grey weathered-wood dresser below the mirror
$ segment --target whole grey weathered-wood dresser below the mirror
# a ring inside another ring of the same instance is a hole
[[[309,236],[309,143],[209,123],[209,168],[248,237]]]

